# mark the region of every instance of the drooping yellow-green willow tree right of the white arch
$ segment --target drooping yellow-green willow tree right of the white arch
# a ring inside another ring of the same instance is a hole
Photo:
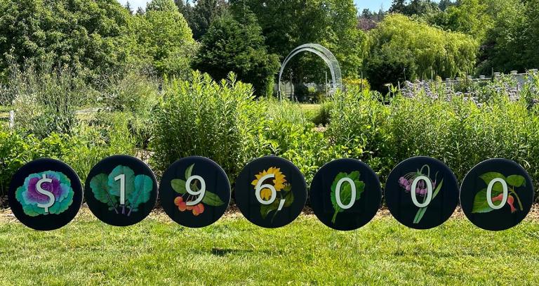
[[[366,74],[373,88],[404,79],[458,77],[471,74],[479,43],[462,33],[445,32],[424,22],[394,14],[369,34]]]

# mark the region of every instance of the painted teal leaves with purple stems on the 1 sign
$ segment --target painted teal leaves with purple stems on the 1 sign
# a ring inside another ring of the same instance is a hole
[[[124,177],[120,180],[119,176]],[[121,189],[124,184],[125,204],[120,204]],[[135,172],[126,166],[118,165],[109,175],[98,174],[93,176],[90,181],[90,188],[95,200],[107,204],[109,210],[114,210],[117,214],[120,212],[131,215],[131,212],[138,212],[140,204],[148,202],[152,196],[154,188],[152,178],[146,175],[136,175]],[[121,209],[119,209],[121,207]]]

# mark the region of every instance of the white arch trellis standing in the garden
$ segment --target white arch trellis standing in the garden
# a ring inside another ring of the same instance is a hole
[[[311,53],[316,54],[322,60],[324,60],[326,65],[328,65],[329,70],[331,72],[331,89],[332,89],[332,91],[335,91],[337,89],[342,88],[342,74],[340,72],[340,65],[339,65],[339,62],[338,62],[337,58],[335,58],[335,56],[333,56],[333,53],[331,53],[331,51],[329,51],[327,48],[325,48],[324,46],[321,46],[319,44],[304,44],[304,45],[298,46],[297,48],[294,48],[288,54],[288,56],[286,56],[286,58],[284,59],[282,65],[281,65],[281,70],[279,70],[279,99],[281,99],[281,94],[282,94],[281,93],[281,77],[283,75],[284,68],[286,67],[288,62],[294,56],[296,56],[298,53],[302,53],[304,51],[309,51]]]

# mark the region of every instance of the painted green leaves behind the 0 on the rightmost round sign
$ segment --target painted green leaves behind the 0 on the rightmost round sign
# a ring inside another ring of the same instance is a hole
[[[507,192],[508,192],[507,204],[510,206],[511,212],[517,211],[517,208],[514,207],[515,198],[517,199],[517,202],[519,204],[519,209],[521,211],[524,210],[524,207],[522,206],[521,201],[520,201],[520,197],[517,194],[517,188],[526,186],[526,178],[524,178],[524,176],[511,175],[511,176],[507,176],[506,178],[503,174],[500,174],[497,172],[488,172],[486,174],[482,174],[481,176],[479,176],[479,178],[481,178],[484,181],[486,186],[488,186],[488,184],[491,183],[491,181],[493,181],[496,178],[500,178],[503,181],[505,181],[505,183],[507,183]],[[492,212],[494,210],[488,205],[486,193],[487,193],[487,188],[483,188],[479,190],[477,194],[475,194],[474,205],[472,207],[472,213],[475,213],[475,214],[487,213],[487,212]],[[501,200],[503,200],[503,185],[501,183],[495,183],[492,186],[491,201],[495,203]]]

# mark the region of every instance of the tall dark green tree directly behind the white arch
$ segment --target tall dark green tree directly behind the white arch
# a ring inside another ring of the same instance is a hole
[[[356,77],[361,70],[361,51],[366,37],[357,29],[357,8],[353,0],[231,0],[255,13],[270,53],[281,60],[293,48],[316,43],[328,47],[341,60],[345,76]],[[358,56],[359,55],[359,56]],[[310,53],[294,58],[287,68],[293,81],[322,82],[327,67]]]

